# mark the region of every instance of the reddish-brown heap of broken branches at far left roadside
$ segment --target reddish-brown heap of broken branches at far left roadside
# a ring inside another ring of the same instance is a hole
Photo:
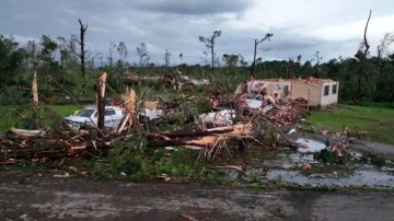
[[[12,164],[20,160],[45,163],[48,160],[95,155],[97,150],[109,148],[102,139],[89,139],[89,131],[63,135],[47,133],[43,130],[11,128],[0,135],[0,164]]]

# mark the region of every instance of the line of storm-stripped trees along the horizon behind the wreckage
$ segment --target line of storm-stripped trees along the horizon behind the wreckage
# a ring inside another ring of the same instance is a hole
[[[92,96],[95,86],[95,77],[101,71],[109,73],[108,83],[114,89],[124,84],[124,74],[135,71],[141,74],[163,74],[174,71],[175,68],[184,70],[185,74],[199,75],[200,72],[225,74],[234,79],[247,78],[329,78],[339,81],[339,100],[343,102],[378,102],[390,103],[394,101],[394,53],[390,51],[390,45],[394,42],[394,35],[386,33],[376,46],[376,56],[370,55],[371,46],[368,43],[367,31],[371,12],[366,23],[363,42],[355,51],[354,57],[332,58],[321,62],[322,55],[316,51],[314,59],[302,60],[298,55],[288,60],[263,61],[258,57],[258,46],[270,40],[273,33],[267,33],[262,38],[254,40],[253,61],[247,63],[240,54],[224,54],[218,56],[215,50],[221,31],[215,31],[212,35],[199,36],[198,40],[207,50],[204,55],[210,55],[210,65],[171,66],[172,54],[166,49],[163,54],[164,66],[158,67],[150,61],[148,46],[144,43],[136,46],[135,53],[139,58],[138,63],[129,63],[127,60],[130,50],[124,42],[109,43],[108,51],[92,51],[86,45],[85,33],[89,28],[79,20],[79,33],[71,34],[69,38],[59,36],[50,38],[43,35],[39,40],[30,40],[20,46],[13,37],[0,35],[0,103],[14,104],[25,102],[30,96],[28,90],[32,75],[37,72],[40,82],[40,92],[50,94],[73,94],[81,100]],[[264,49],[263,49],[264,50]],[[183,54],[178,55],[183,61]],[[95,63],[106,60],[100,65]],[[240,77],[240,78],[239,78]]]

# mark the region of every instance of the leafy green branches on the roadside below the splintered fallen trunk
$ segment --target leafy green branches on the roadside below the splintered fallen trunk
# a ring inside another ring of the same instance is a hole
[[[197,155],[190,150],[167,151],[149,149],[143,137],[112,144],[106,165],[95,166],[94,174],[127,179],[152,179],[166,174],[172,178],[188,178],[195,172]],[[104,171],[104,172],[103,172]]]

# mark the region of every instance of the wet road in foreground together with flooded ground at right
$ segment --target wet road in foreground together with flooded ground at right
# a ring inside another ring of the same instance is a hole
[[[322,137],[299,138],[309,140],[305,150],[324,148]],[[392,160],[394,147],[383,146],[354,150]],[[269,155],[242,172],[227,170],[230,183],[209,186],[63,178],[65,171],[2,166],[0,220],[392,220],[392,161],[384,167],[326,165],[305,150]],[[300,170],[305,162],[311,171]]]

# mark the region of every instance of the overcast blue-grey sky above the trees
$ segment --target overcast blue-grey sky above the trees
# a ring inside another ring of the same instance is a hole
[[[258,50],[263,60],[314,58],[323,61],[352,57],[368,28],[371,54],[386,32],[394,32],[393,0],[0,0],[0,34],[13,35],[23,46],[43,34],[51,38],[78,34],[81,19],[89,25],[89,48],[107,56],[109,43],[124,42],[128,61],[137,62],[136,47],[148,46],[151,61],[171,63],[179,54],[189,65],[205,63],[206,50],[198,36],[217,38],[217,56],[241,54],[253,59],[255,38],[273,33]],[[104,60],[105,61],[105,60]]]

